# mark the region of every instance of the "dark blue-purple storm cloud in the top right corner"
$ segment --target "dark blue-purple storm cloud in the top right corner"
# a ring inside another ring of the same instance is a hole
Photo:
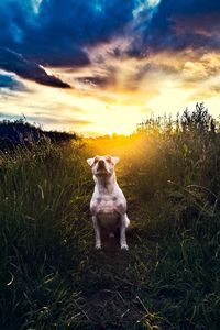
[[[162,0],[150,26],[140,29],[142,46],[152,51],[220,50],[220,1]]]

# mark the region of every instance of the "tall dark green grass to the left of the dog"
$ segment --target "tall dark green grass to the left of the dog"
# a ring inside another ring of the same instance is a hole
[[[1,154],[0,162],[0,328],[48,329],[63,315],[75,322],[79,296],[61,272],[64,258],[65,266],[78,263],[79,241],[88,235],[80,144],[47,140]]]

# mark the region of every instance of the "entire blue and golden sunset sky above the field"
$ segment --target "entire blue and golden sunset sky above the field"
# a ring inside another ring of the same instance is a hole
[[[219,94],[219,0],[0,1],[0,120],[130,134]]]

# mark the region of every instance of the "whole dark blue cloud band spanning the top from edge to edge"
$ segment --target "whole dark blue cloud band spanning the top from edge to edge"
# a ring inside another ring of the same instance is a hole
[[[220,1],[157,2],[2,0],[1,47],[37,64],[65,67],[88,65],[85,47],[117,36],[132,40],[125,51],[129,57],[142,58],[150,51],[220,48]],[[124,56],[124,51],[118,48],[113,55]]]

